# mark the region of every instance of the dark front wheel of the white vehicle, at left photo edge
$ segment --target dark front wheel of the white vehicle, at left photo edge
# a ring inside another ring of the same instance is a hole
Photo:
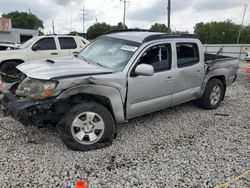
[[[16,82],[18,79],[16,78],[20,71],[16,68],[20,63],[15,61],[8,61],[1,66],[0,71],[4,74],[1,74],[3,81],[7,83]]]

